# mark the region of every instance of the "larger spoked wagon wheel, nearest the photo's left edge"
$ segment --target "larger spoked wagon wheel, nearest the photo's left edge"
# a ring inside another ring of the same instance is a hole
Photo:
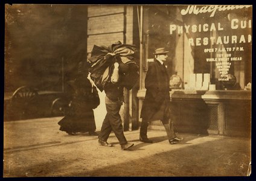
[[[31,106],[34,106],[33,103],[36,103],[37,96],[37,91],[31,87],[19,87],[11,97],[13,112],[18,113],[19,118],[24,118],[24,116],[28,114],[28,110]]]

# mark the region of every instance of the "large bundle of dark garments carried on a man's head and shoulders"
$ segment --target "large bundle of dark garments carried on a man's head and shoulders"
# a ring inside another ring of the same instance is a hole
[[[132,89],[139,77],[139,68],[135,59],[136,46],[122,44],[94,45],[89,58],[91,79],[102,92],[109,83]]]

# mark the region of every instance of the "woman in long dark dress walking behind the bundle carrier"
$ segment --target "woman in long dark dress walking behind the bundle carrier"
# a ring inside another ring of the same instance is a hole
[[[75,133],[89,132],[89,135],[97,136],[94,111],[100,104],[98,91],[88,80],[88,71],[80,72],[74,81],[74,95],[68,114],[58,124],[60,130],[75,135]]]

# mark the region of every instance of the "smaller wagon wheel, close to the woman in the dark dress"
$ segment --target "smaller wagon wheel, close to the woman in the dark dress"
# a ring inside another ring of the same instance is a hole
[[[65,98],[56,98],[51,104],[52,116],[65,116],[69,110],[69,101]]]

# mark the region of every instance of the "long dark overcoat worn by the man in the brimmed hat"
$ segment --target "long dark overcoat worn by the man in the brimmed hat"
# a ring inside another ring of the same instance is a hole
[[[170,80],[167,68],[156,59],[149,64],[145,87],[147,90],[141,109],[141,118],[147,121],[150,121],[152,117],[155,120],[166,118],[167,115],[164,114],[170,103]],[[154,115],[158,115],[158,118]]]

